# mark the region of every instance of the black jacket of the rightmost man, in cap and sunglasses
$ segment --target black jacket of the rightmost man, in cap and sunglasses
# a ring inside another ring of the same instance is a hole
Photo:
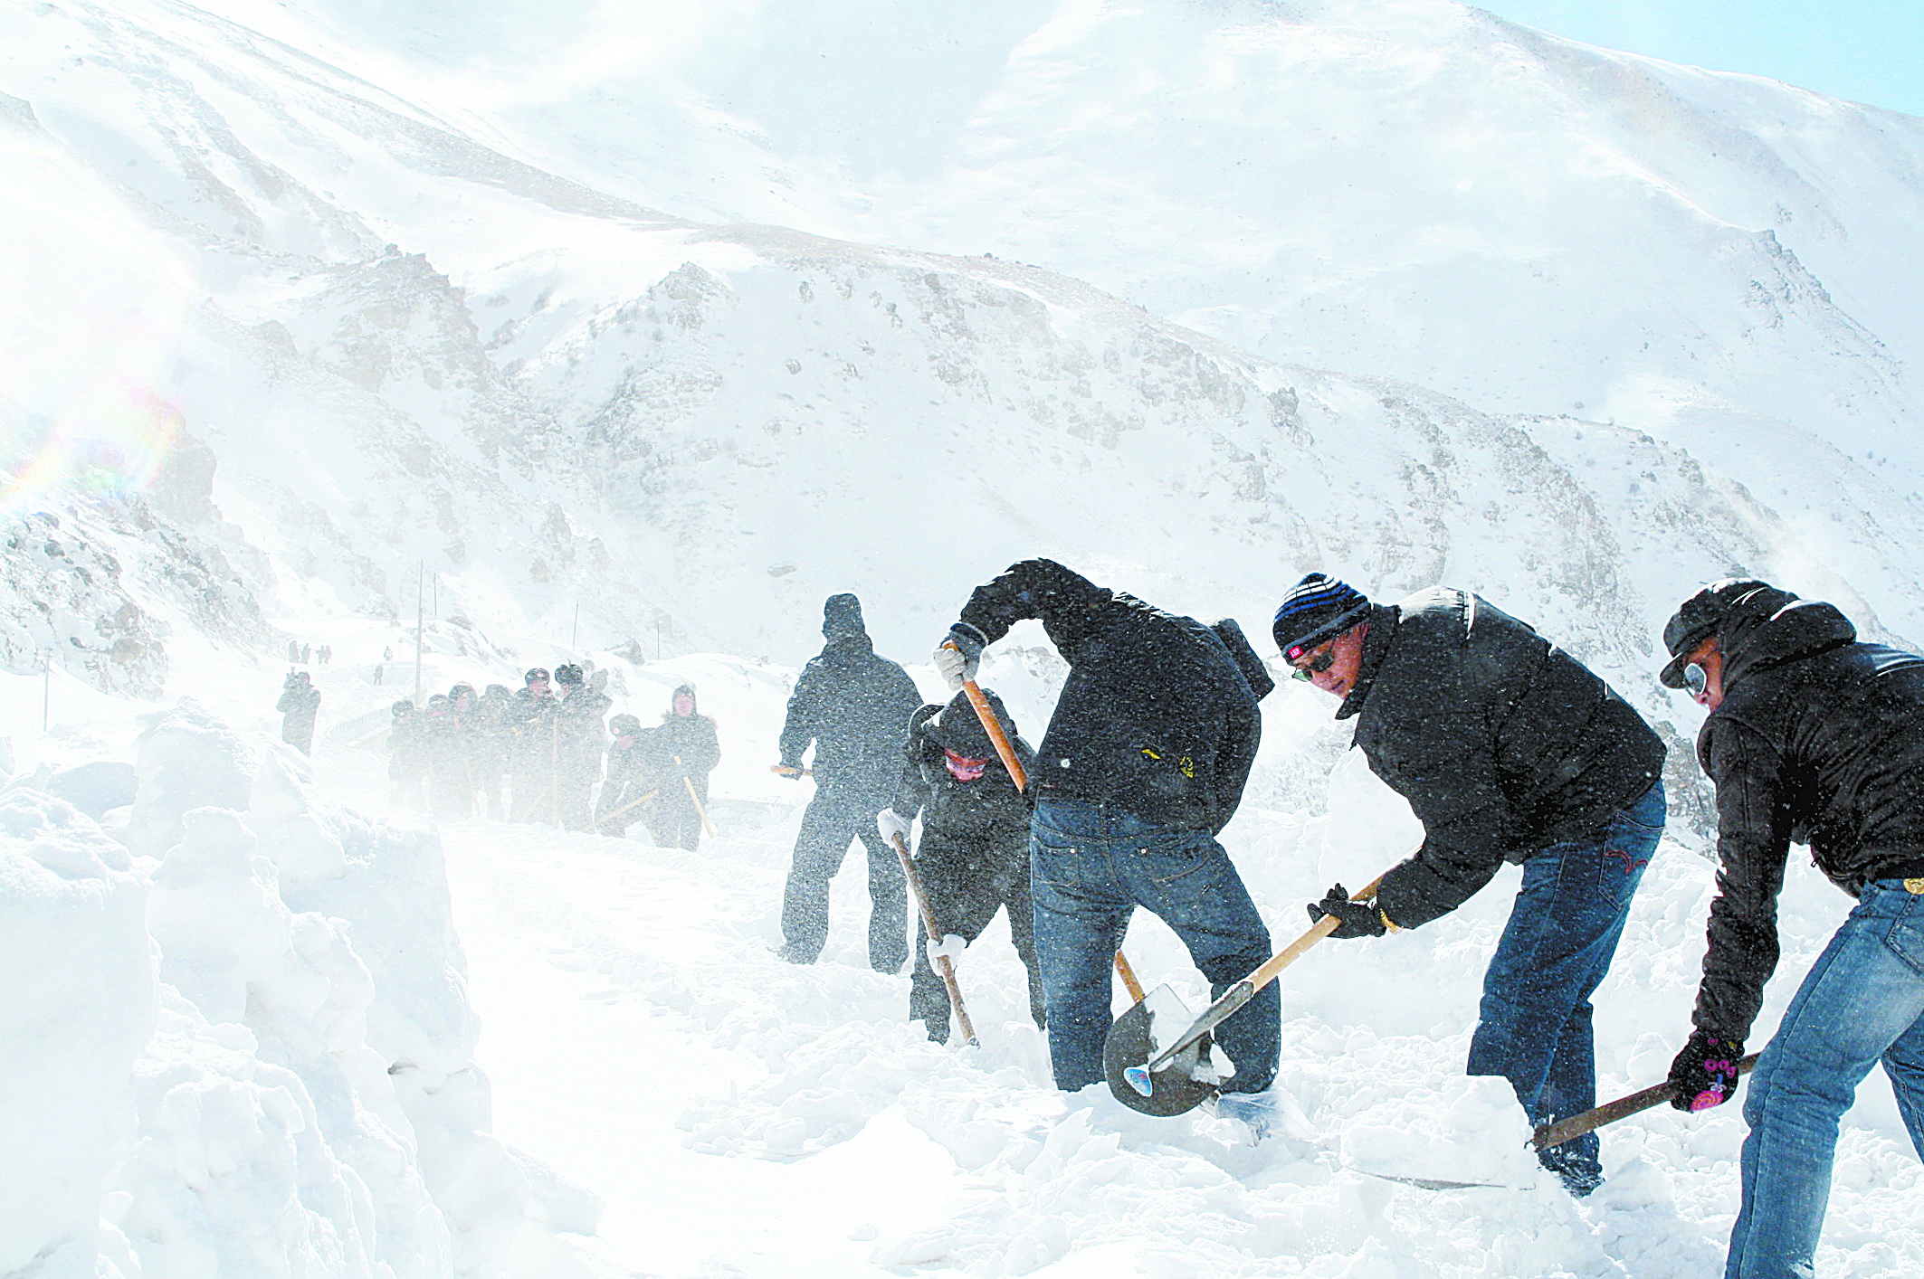
[[[1716,783],[1716,898],[1693,1021],[1743,1041],[1778,966],[1789,844],[1832,883],[1924,875],[1924,658],[1859,644],[1801,600],[1720,637],[1724,700],[1697,735]]]

